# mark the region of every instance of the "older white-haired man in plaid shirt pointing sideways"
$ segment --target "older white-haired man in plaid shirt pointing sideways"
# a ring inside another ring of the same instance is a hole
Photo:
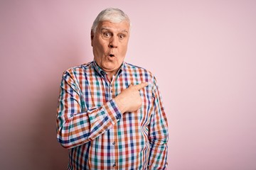
[[[107,8],[91,31],[94,60],[63,73],[58,141],[68,169],[166,169],[168,128],[154,76],[124,62],[128,16]]]

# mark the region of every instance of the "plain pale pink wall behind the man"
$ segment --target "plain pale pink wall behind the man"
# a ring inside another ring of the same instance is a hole
[[[169,169],[256,169],[256,1],[1,1],[1,169],[65,169],[55,110],[65,69],[92,60],[103,8],[132,20],[127,62],[153,72]]]

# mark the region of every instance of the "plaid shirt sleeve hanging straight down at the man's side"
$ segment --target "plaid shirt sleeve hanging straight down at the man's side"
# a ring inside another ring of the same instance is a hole
[[[169,139],[168,123],[161,94],[156,79],[153,85],[154,96],[154,114],[151,117],[149,127],[149,142],[151,145],[149,153],[148,169],[166,169],[167,168],[167,142]]]

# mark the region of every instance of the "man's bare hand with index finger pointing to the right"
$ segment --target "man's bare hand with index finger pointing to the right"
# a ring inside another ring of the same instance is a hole
[[[114,98],[122,113],[137,111],[142,106],[142,98],[139,95],[139,90],[147,85],[148,83],[146,82],[135,86],[130,85]]]

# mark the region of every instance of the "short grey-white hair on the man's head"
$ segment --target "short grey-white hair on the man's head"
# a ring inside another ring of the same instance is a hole
[[[97,18],[95,18],[95,21],[92,23],[91,30],[93,33],[96,32],[97,26],[101,21],[110,21],[112,23],[121,23],[122,21],[127,21],[131,27],[129,16],[127,16],[127,14],[119,8],[106,8],[105,10],[101,11]]]

